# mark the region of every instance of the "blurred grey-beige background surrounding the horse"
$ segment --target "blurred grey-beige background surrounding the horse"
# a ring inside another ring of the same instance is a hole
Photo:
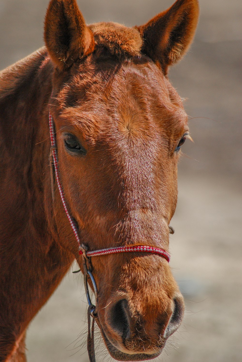
[[[78,0],[87,23],[147,22],[173,0]],[[43,45],[48,0],[0,0],[0,68]],[[191,117],[179,162],[171,268],[184,323],[158,361],[242,361],[242,3],[200,0],[200,22],[170,79]],[[73,266],[75,270],[76,266]],[[88,362],[82,276],[71,272],[27,333],[29,362]],[[97,336],[97,334],[96,334]],[[84,344],[82,345],[82,342]],[[97,337],[97,346],[99,344]],[[98,362],[109,361],[97,348]]]

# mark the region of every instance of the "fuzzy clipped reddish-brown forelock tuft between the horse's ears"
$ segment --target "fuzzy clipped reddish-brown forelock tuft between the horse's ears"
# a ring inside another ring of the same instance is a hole
[[[114,22],[99,22],[89,28],[94,35],[95,47],[105,47],[118,57],[140,55],[142,39],[137,29]]]

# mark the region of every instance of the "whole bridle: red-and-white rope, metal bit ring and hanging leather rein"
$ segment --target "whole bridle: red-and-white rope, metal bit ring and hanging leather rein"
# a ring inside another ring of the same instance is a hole
[[[76,223],[71,218],[71,216],[68,212],[67,205],[65,203],[64,192],[63,192],[63,189],[62,189],[62,186],[60,183],[59,170],[58,170],[58,153],[57,153],[57,144],[56,144],[56,137],[55,137],[55,126],[54,126],[53,117],[50,114],[50,112],[49,112],[49,125],[50,125],[50,139],[51,139],[49,161],[50,161],[50,167],[51,167],[50,173],[51,173],[52,199],[53,199],[53,203],[54,203],[54,173],[55,173],[61,201],[63,203],[64,210],[65,210],[65,213],[67,214],[68,220],[71,224],[72,230],[75,234],[75,237],[76,237],[76,240],[78,243],[78,247],[79,247],[79,254],[82,256],[83,269],[84,269],[84,273],[83,273],[84,274],[84,286],[85,286],[85,291],[86,291],[86,298],[87,298],[88,304],[89,304],[87,347],[88,347],[88,355],[89,355],[90,362],[95,362],[96,360],[95,360],[95,350],[94,350],[94,324],[96,321],[97,325],[98,325],[98,315],[97,315],[97,311],[96,311],[98,290],[97,290],[97,285],[96,285],[95,279],[92,274],[92,264],[91,264],[90,257],[109,255],[109,254],[115,254],[115,253],[128,253],[128,252],[145,253],[146,252],[146,253],[153,253],[153,254],[160,255],[163,258],[165,258],[167,260],[167,262],[169,262],[170,254],[167,253],[167,251],[165,251],[164,249],[160,249],[157,247],[151,247],[151,246],[147,246],[147,245],[131,245],[131,246],[124,246],[124,247],[114,247],[114,248],[106,248],[106,249],[101,249],[101,250],[88,251],[88,247],[84,244],[81,244],[79,236],[78,236]],[[53,159],[54,170],[52,168],[53,164],[52,164],[51,159]],[[169,232],[171,234],[174,233],[174,230],[172,227],[169,227]],[[73,271],[73,273],[78,273],[79,271],[81,271],[81,270]],[[88,277],[90,278],[90,280],[92,281],[92,284],[93,284],[93,289],[94,289],[94,294],[95,294],[95,305],[92,303],[92,300],[90,299],[90,294],[89,294],[89,289],[88,289]],[[91,328],[91,317],[93,318],[92,328]]]

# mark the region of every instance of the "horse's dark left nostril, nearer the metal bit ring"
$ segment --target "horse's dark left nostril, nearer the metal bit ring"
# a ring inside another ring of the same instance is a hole
[[[123,339],[130,336],[130,319],[128,315],[128,302],[126,299],[119,300],[110,313],[110,327],[114,329]]]

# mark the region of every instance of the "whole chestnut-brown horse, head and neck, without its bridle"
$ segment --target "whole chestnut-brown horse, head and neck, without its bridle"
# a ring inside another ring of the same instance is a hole
[[[87,26],[75,0],[51,0],[46,46],[0,73],[1,362],[26,361],[30,321],[75,258],[82,269],[49,167],[49,111],[81,242],[90,250],[143,244],[168,251],[188,127],[167,70],[188,49],[198,12],[197,0],[177,0],[143,26]],[[167,261],[109,255],[92,258],[92,269],[111,356],[159,355],[184,310]]]

